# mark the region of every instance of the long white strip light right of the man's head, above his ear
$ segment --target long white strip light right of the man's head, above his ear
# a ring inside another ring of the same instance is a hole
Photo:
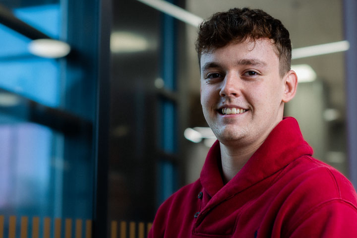
[[[350,48],[350,43],[348,41],[339,41],[327,44],[321,44],[316,46],[308,46],[293,49],[292,59],[300,59],[311,56],[320,56],[336,52],[347,51]]]

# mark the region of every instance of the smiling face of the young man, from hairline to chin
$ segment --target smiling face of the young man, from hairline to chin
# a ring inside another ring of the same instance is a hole
[[[201,56],[201,104],[223,144],[258,143],[283,117],[285,83],[267,39],[229,44]]]

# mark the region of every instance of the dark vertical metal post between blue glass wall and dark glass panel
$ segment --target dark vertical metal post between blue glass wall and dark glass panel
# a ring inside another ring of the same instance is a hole
[[[97,81],[97,113],[95,131],[95,201],[94,238],[108,237],[108,170],[110,117],[110,34],[112,1],[99,1],[99,49]]]

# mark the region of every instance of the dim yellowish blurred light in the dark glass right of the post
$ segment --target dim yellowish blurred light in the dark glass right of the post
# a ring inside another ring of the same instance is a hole
[[[113,53],[133,53],[147,51],[150,44],[144,37],[131,32],[113,32],[110,48]]]

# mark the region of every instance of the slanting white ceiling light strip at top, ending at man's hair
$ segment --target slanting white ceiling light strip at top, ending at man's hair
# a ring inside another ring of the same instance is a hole
[[[189,25],[197,27],[198,24],[203,21],[199,16],[192,14],[181,7],[174,5],[170,2],[164,0],[138,0],[142,3],[145,3],[159,11],[162,11],[170,16],[173,16]]]

